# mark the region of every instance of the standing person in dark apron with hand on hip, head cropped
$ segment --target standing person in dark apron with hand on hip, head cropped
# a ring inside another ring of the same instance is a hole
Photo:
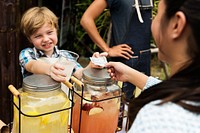
[[[95,19],[106,8],[110,11],[112,23],[110,46],[95,25]],[[94,0],[83,14],[80,24],[111,60],[150,75],[151,11],[151,0]],[[130,83],[123,83],[126,99],[131,99],[134,88]]]

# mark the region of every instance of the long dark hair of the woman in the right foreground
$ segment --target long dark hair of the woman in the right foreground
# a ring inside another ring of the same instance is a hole
[[[171,78],[145,90],[138,98],[131,99],[128,112],[129,127],[145,104],[158,99],[162,100],[159,105],[170,101],[200,114],[200,106],[191,104],[200,103],[200,0],[164,0],[164,3],[166,19],[170,19],[177,11],[182,11],[186,16],[187,25],[192,30],[193,41],[188,40],[188,52],[192,60],[189,66]]]

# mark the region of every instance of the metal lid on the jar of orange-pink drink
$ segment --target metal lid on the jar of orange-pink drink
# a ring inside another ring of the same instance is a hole
[[[89,82],[112,82],[112,79],[106,69],[85,69],[83,71],[83,79]]]

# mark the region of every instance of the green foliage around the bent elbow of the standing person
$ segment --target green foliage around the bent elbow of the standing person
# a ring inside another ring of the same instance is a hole
[[[93,0],[84,0],[79,1],[76,4],[76,35],[75,35],[75,41],[74,41],[74,48],[75,51],[78,51],[78,53],[82,56],[90,56],[95,51],[101,51],[96,44],[90,39],[87,32],[83,29],[83,27],[80,25],[80,19],[85,12],[85,10],[89,7],[89,5],[93,2]],[[110,24],[110,14],[108,10],[105,10],[96,20],[95,20],[97,29],[100,33],[100,35],[103,37],[104,40],[107,39],[107,32],[109,30],[109,24]]]

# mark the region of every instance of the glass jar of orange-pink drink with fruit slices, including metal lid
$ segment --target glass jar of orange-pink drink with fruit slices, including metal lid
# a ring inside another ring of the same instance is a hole
[[[106,69],[83,71],[84,87],[75,85],[72,128],[75,133],[114,133],[121,91]]]

